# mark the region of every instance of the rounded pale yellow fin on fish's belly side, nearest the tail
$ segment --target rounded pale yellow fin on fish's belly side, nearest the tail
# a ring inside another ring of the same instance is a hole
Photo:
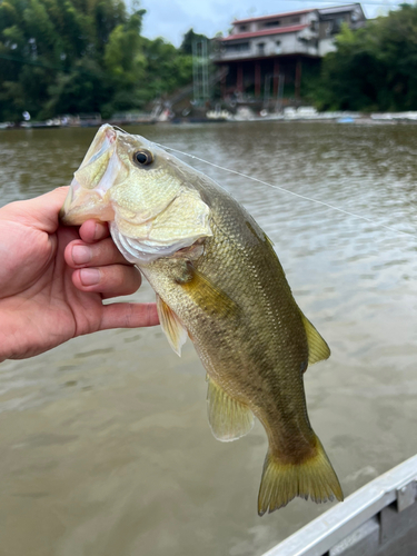
[[[237,440],[254,427],[252,411],[230,397],[209,377],[207,410],[211,431],[222,443]]]

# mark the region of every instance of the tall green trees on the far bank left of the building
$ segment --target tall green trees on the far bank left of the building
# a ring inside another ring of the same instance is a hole
[[[0,2],[0,121],[142,108],[192,79],[191,58],[140,36],[122,0]]]

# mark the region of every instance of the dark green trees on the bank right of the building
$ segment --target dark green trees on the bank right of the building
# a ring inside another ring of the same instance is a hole
[[[312,97],[319,109],[417,109],[417,6],[401,4],[357,31],[342,27]]]

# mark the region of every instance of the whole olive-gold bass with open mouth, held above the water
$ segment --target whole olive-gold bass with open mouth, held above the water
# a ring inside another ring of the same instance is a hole
[[[189,337],[207,371],[208,420],[230,441],[259,419],[268,438],[258,514],[295,497],[344,499],[311,428],[309,365],[330,349],[298,307],[274,245],[227,191],[162,147],[102,126],[60,212],[93,218],[156,291],[160,324],[180,355]]]

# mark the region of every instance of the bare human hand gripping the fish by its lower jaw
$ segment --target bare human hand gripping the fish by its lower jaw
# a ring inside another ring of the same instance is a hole
[[[109,328],[153,326],[155,304],[103,299],[133,294],[139,270],[107,225],[59,222],[68,188],[0,209],[0,361],[31,357]]]

